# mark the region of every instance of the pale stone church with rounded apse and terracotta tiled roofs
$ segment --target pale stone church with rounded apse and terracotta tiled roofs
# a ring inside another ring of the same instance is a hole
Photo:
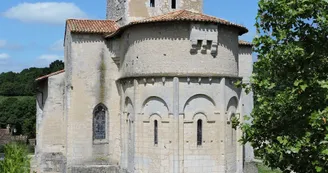
[[[107,19],[68,19],[65,69],[36,79],[33,169],[243,173],[236,119],[253,108],[247,28],[203,0],[107,0]]]

